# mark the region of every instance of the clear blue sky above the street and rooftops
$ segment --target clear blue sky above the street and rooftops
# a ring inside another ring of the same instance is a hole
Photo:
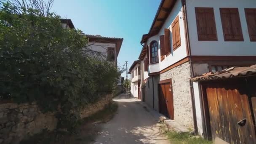
[[[52,11],[71,19],[76,29],[86,34],[122,37],[118,65],[137,60],[160,0],[55,0]],[[125,77],[125,72],[122,74]]]

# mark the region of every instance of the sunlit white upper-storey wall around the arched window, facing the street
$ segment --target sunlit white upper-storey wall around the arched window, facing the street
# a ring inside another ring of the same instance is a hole
[[[171,24],[173,23],[174,19],[179,16],[179,27],[180,27],[180,36],[181,36],[181,46],[177,48],[175,51],[173,51],[172,46],[172,30],[171,30]],[[160,60],[160,35],[164,35],[164,29],[170,29],[170,37],[171,37],[171,54],[167,57],[165,56],[165,59],[163,61]],[[181,0],[177,0],[175,3],[173,10],[171,11],[170,15],[165,21],[165,24],[163,24],[163,27],[160,29],[160,32],[150,37],[147,40],[147,44],[151,43],[153,40],[156,40],[158,42],[158,58],[159,58],[159,64],[151,64],[149,66],[150,73],[152,72],[159,72],[166,67],[176,63],[177,61],[185,58],[187,56],[186,51],[186,39],[185,39],[185,29],[184,29],[184,19],[182,14],[182,4]]]

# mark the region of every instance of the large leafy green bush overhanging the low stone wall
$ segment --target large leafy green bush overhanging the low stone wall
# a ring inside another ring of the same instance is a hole
[[[60,105],[61,123],[75,123],[80,108],[112,91],[120,72],[93,59],[82,31],[64,29],[59,16],[18,10],[0,5],[0,97],[37,101],[45,112]]]

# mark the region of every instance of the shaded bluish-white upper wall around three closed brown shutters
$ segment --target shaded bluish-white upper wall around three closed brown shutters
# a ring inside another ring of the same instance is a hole
[[[198,41],[195,7],[211,7],[214,9],[218,41]],[[244,41],[224,41],[219,8],[238,8]],[[256,8],[256,0],[187,0],[192,55],[255,56],[256,42],[250,41],[244,8]]]

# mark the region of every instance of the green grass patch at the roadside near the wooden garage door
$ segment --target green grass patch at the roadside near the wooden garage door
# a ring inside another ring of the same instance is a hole
[[[189,133],[166,131],[166,135],[170,139],[171,144],[212,144],[212,141],[207,141],[201,137],[193,137]]]

